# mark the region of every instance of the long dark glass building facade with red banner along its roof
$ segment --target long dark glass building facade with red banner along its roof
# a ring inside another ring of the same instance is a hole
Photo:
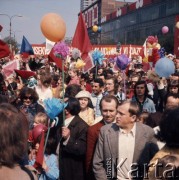
[[[172,53],[176,17],[179,15],[179,0],[137,0],[107,15],[103,13],[103,1],[96,1],[90,8],[94,7],[98,9],[95,24],[101,27],[100,32],[94,33],[92,31],[94,24],[89,24],[89,19],[85,18],[92,44],[121,42],[121,44],[142,45],[148,36],[153,35],[157,36],[159,43]],[[87,12],[88,9],[83,11],[84,17]],[[168,26],[167,34],[162,33],[163,26]]]

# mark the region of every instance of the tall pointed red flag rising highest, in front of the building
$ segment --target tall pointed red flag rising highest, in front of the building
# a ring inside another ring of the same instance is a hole
[[[81,57],[86,63],[84,67],[84,72],[87,72],[94,65],[92,62],[92,58],[89,56],[89,52],[92,50],[92,45],[88,36],[82,13],[80,13],[78,19],[75,35],[72,40],[72,47],[78,48],[81,51]]]

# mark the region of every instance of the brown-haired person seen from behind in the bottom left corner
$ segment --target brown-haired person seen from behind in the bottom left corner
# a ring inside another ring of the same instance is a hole
[[[27,119],[14,106],[2,103],[0,106],[0,179],[37,179],[27,167],[21,166],[27,154]]]

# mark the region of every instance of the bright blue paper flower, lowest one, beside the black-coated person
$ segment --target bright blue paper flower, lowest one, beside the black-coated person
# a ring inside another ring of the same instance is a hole
[[[57,98],[48,98],[44,100],[45,111],[50,119],[54,119],[67,106]]]

